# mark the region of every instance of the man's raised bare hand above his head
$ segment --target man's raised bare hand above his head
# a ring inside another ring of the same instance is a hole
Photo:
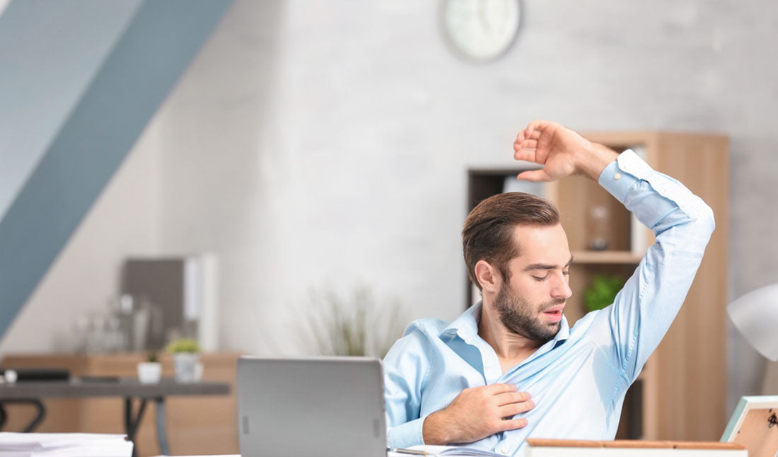
[[[597,180],[617,154],[592,143],[564,125],[551,121],[531,121],[513,142],[513,158],[543,165],[540,170],[524,171],[517,178],[527,181],[555,181],[584,173]]]

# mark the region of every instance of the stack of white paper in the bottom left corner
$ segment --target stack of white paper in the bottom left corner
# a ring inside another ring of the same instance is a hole
[[[0,457],[131,457],[123,434],[0,433]]]

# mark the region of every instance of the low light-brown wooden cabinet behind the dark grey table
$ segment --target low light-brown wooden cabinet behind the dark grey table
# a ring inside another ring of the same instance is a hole
[[[237,454],[237,353],[202,354],[203,378],[230,383],[230,395],[170,396],[166,399],[167,438],[176,455]],[[5,367],[65,368],[71,376],[136,377],[140,353],[83,355],[7,355]],[[163,377],[173,377],[172,357],[159,360]],[[124,433],[124,400],[118,397],[44,399],[46,417],[37,432]],[[138,404],[135,403],[135,410]],[[34,416],[30,406],[5,406],[4,431],[20,431]],[[147,405],[135,442],[138,455],[158,455],[153,403]]]

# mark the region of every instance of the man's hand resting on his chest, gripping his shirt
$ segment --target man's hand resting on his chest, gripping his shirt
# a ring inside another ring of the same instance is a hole
[[[492,384],[466,388],[443,410],[426,417],[422,435],[426,445],[471,443],[501,431],[527,426],[527,419],[513,419],[534,408],[527,392],[516,385]]]

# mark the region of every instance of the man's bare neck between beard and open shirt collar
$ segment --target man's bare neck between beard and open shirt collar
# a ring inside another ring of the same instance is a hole
[[[489,346],[492,346],[500,364],[503,366],[503,372],[506,367],[513,367],[520,364],[522,360],[530,357],[542,343],[534,339],[528,339],[517,333],[511,332],[503,325],[499,314],[492,307],[492,301],[484,301],[481,307],[481,319],[478,322],[478,336],[480,336]]]

